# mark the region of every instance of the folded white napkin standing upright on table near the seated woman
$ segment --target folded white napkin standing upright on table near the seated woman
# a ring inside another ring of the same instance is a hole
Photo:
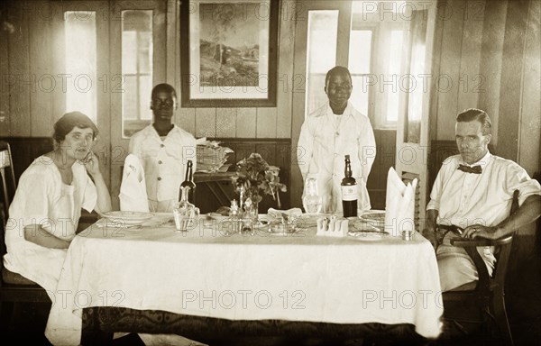
[[[133,154],[124,160],[124,172],[120,185],[120,210],[130,212],[149,212],[144,170],[141,161]]]

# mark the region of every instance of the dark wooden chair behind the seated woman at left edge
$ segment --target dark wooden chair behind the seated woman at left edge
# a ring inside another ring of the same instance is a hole
[[[13,312],[13,303],[50,303],[50,298],[45,289],[35,282],[24,278],[4,267],[5,248],[5,227],[8,219],[8,211],[15,191],[15,177],[13,160],[9,143],[0,141],[0,191],[2,192],[2,221],[0,222],[0,269],[2,270],[2,279],[0,280],[0,312],[4,313],[2,306],[4,302],[12,303],[10,310],[6,311],[11,320]]]

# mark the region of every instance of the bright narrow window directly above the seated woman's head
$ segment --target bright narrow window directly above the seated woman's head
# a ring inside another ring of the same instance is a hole
[[[66,11],[64,34],[66,111],[82,112],[96,123],[96,12]]]

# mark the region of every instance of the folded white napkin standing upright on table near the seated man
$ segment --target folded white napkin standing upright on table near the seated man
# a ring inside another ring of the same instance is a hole
[[[394,168],[387,174],[385,198],[385,231],[400,236],[403,231],[415,231],[415,189],[417,178],[405,185]]]

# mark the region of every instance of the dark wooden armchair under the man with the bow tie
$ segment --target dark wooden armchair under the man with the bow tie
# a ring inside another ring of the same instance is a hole
[[[518,190],[513,194],[511,213],[514,214],[518,209]],[[454,246],[463,247],[470,255],[479,273],[479,280],[456,287],[451,291],[444,292],[444,318],[452,321],[459,329],[461,323],[482,323],[485,334],[491,332],[491,326],[497,326],[500,332],[500,343],[512,345],[513,338],[509,328],[507,312],[505,310],[505,277],[508,268],[509,256],[513,234],[498,240],[462,240],[455,239],[451,241]],[[496,251],[496,268],[489,275],[485,262],[481,254],[477,251],[478,246],[494,246]],[[474,314],[468,311],[468,307],[474,307]]]

